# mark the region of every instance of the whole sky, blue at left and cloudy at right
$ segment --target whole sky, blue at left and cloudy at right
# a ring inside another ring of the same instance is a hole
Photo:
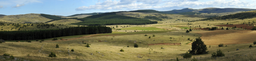
[[[44,13],[70,16],[80,13],[104,13],[152,9],[171,11],[183,8],[251,8],[256,0],[0,0],[0,14]]]

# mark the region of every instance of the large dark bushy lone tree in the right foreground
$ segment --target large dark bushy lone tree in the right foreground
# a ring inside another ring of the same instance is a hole
[[[206,45],[202,41],[200,37],[196,38],[195,41],[192,43],[192,50],[189,49],[189,53],[191,54],[202,54],[208,53]]]

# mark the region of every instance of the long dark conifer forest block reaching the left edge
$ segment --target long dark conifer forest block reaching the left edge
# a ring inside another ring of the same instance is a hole
[[[29,31],[0,31],[3,40],[41,40],[53,37],[64,37],[82,34],[112,33],[106,26],[69,27],[64,29],[41,29]]]

